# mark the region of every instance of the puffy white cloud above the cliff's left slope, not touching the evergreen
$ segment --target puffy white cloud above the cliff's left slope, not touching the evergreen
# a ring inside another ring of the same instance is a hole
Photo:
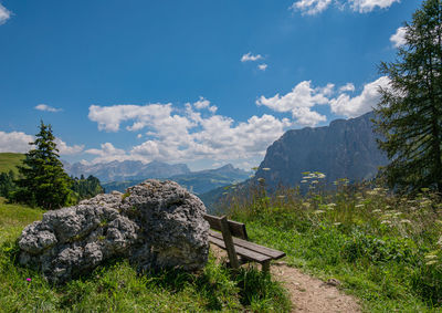
[[[265,105],[276,112],[291,112],[299,125],[315,126],[327,118],[312,108],[318,104],[328,104],[327,96],[332,95],[334,84],[327,84],[325,87],[312,87],[312,81],[298,83],[292,92],[281,96],[280,94],[266,98],[261,96],[257,105]]]

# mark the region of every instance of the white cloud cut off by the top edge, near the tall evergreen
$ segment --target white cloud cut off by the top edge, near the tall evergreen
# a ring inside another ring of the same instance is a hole
[[[367,13],[377,8],[389,8],[394,2],[400,2],[400,0],[298,0],[293,2],[288,9],[301,11],[303,15],[315,15],[325,11],[333,3],[340,10],[349,7],[355,12]]]

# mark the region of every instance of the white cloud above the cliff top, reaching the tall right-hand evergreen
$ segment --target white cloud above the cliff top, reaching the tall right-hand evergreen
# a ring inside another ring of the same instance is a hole
[[[347,117],[356,117],[372,109],[379,102],[379,87],[387,87],[390,80],[381,76],[375,82],[366,84],[361,94],[350,97],[348,94],[340,94],[330,101],[332,112]]]

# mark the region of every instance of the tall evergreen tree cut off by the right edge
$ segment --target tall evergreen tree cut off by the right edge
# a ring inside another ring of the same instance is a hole
[[[381,173],[403,191],[442,192],[442,0],[423,1],[404,28],[397,61],[380,64],[390,84],[375,124],[391,160]]]

